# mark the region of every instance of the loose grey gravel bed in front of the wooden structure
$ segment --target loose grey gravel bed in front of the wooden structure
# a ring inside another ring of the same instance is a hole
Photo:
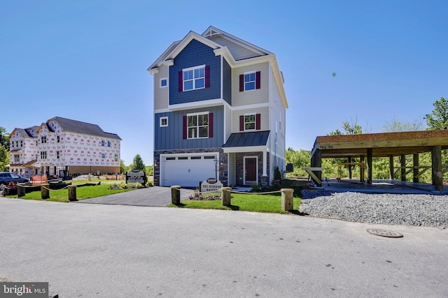
[[[448,228],[448,195],[302,191],[300,211],[342,221]]]

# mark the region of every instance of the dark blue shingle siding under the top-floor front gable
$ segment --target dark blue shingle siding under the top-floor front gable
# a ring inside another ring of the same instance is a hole
[[[200,65],[210,66],[210,87],[179,92],[179,71]],[[174,65],[169,67],[169,82],[170,105],[221,98],[221,57],[216,57],[211,47],[193,39],[174,58]]]

